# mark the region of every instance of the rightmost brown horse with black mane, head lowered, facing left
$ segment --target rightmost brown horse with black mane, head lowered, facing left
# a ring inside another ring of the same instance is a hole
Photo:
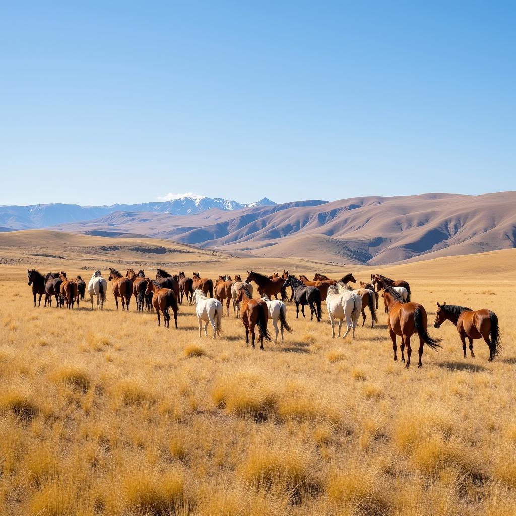
[[[471,356],[473,353],[473,339],[483,338],[489,346],[489,362],[499,356],[502,350],[502,339],[498,329],[498,317],[491,310],[476,310],[471,308],[457,307],[453,304],[437,303],[436,320],[433,326],[439,328],[445,320],[453,322],[459,332],[466,358],[466,337],[470,341]]]

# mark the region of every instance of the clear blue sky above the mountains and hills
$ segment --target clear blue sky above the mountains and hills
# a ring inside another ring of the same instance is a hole
[[[516,189],[514,2],[10,2],[0,204]]]

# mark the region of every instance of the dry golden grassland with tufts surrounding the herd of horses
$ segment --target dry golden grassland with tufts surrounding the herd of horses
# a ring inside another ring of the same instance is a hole
[[[481,341],[464,360],[447,322],[430,329],[443,349],[409,370],[392,360],[383,310],[344,341],[330,338],[324,306],[317,324],[288,305],[295,333],[259,351],[233,312],[222,338],[199,338],[193,308],[181,306],[178,330],[158,328],[134,299],[114,310],[110,286],[103,312],[88,294],[79,310],[34,309],[24,264],[0,266],[0,514],[513,516],[515,256],[317,265],[409,280],[430,323],[436,301],[498,314],[495,362]],[[96,267],[81,270],[83,259],[38,268],[88,281]],[[209,277],[251,266],[209,260]],[[294,263],[254,268],[316,268]]]

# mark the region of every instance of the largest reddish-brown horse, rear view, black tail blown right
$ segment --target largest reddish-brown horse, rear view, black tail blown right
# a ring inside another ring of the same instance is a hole
[[[403,350],[407,346],[407,365],[410,366],[410,355],[412,348],[410,347],[410,337],[417,333],[420,339],[419,362],[417,367],[423,367],[421,357],[423,356],[423,347],[425,343],[432,349],[437,351],[438,347],[442,347],[439,342],[441,338],[432,338],[426,329],[428,317],[423,305],[419,303],[404,303],[401,296],[389,285],[384,285],[383,296],[389,307],[389,315],[387,316],[387,328],[392,340],[392,348],[394,350],[394,362],[398,361],[396,355],[396,335],[401,337],[401,362],[405,362]]]

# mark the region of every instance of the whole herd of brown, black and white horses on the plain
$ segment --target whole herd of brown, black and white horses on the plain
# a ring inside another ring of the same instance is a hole
[[[36,269],[27,269],[27,281],[33,289],[34,307],[39,295],[38,306],[41,305],[42,296],[45,296],[44,307],[48,304],[52,307],[52,299],[55,298],[56,307],[72,309],[79,301],[84,300],[86,283],[77,276],[74,280],[67,279],[65,271],[49,272],[43,276]],[[109,268],[109,276],[106,281],[100,270],[95,270],[88,282],[91,310],[93,310],[93,298],[96,299],[97,309],[102,310],[106,300],[108,281],[111,283],[111,291],[115,297],[117,310],[119,298],[122,310],[129,310],[131,297],[136,299],[136,310],[142,312],[156,311],[158,326],[161,324],[161,316],[164,318],[164,327],[170,325],[169,310],[172,309],[175,327],[178,327],[179,305],[186,297],[188,304],[195,305],[195,312],[199,323],[199,336],[207,336],[207,327],[211,325],[213,338],[222,334],[222,317],[225,312],[229,317],[231,305],[236,317],[241,320],[246,331],[246,343],[249,344],[251,336],[252,347],[256,340],[260,343],[260,349],[264,349],[263,341],[272,341],[267,328],[270,319],[275,329],[275,343],[281,333],[283,342],[284,331],[293,332],[293,328],[286,320],[286,302],[294,302],[296,305],[296,319],[301,315],[305,318],[304,307],[308,306],[311,313],[310,320],[314,317],[317,322],[322,318],[321,303],[326,302],[328,318],[331,324],[332,334],[335,336],[337,325],[337,337],[341,335],[341,327],[346,323],[345,338],[351,331],[354,338],[355,329],[362,315],[362,326],[365,325],[366,312],[369,310],[371,326],[378,322],[378,299],[383,298],[385,313],[387,314],[387,329],[391,337],[394,351],[394,361],[397,356],[397,337],[401,337],[400,352],[401,362],[410,366],[412,354],[411,338],[418,338],[418,367],[422,367],[422,356],[425,344],[432,349],[442,347],[440,338],[432,337],[427,331],[428,316],[422,304],[411,300],[410,285],[405,280],[393,280],[380,274],[372,274],[369,283],[360,282],[360,288],[354,289],[348,283],[356,283],[352,273],[347,273],[340,279],[330,279],[325,275],[316,273],[313,280],[306,276],[296,277],[284,270],[280,275],[275,272],[270,276],[256,271],[247,271],[247,278],[242,280],[240,275],[234,279],[230,275],[219,275],[217,280],[201,277],[199,272],[193,272],[192,277],[187,277],[185,272],[171,275],[164,269],[157,269],[156,277],[146,277],[142,269],[135,272],[127,269],[125,276],[115,268]],[[253,297],[253,283],[256,285],[259,298]],[[291,295],[287,296],[287,288],[291,288]],[[209,297],[208,297],[209,296]],[[278,299],[280,296],[280,299]],[[272,298],[275,299],[272,299]],[[466,339],[469,342],[471,356],[473,353],[473,340],[483,338],[489,347],[489,361],[494,360],[502,350],[501,338],[498,329],[498,318],[491,310],[476,310],[437,303],[436,319],[433,326],[439,328],[442,323],[449,320],[459,333],[466,358]],[[257,335],[256,335],[257,329]],[[405,360],[405,350],[407,360]]]

